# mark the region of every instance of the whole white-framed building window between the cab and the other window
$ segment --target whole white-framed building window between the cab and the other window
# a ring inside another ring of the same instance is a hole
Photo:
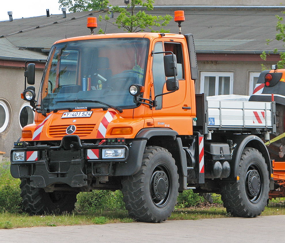
[[[231,72],[201,72],[200,92],[207,96],[232,94],[233,73]]]

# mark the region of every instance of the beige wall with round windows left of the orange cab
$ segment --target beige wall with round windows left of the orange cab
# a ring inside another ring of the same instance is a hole
[[[39,91],[43,70],[36,70],[36,94]],[[0,66],[0,100],[4,101],[9,109],[8,127],[0,133],[0,151],[6,152],[5,157],[10,156],[10,150],[21,136],[19,124],[20,108],[25,102],[20,94],[24,91],[24,68]]]

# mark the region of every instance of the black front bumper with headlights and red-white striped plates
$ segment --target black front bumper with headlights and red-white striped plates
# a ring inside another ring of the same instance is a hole
[[[66,150],[69,147],[66,143],[75,142],[76,149]],[[106,150],[107,153],[103,153]],[[131,150],[134,153],[134,150]],[[116,155],[124,151],[121,155],[123,157],[106,158],[110,151],[115,151]],[[24,161],[15,161],[15,152],[24,152]],[[31,186],[36,188],[45,188],[56,183],[80,188],[88,186],[88,175],[117,175],[116,169],[120,171],[120,164],[126,164],[128,158],[129,147],[124,144],[81,144],[78,136],[65,136],[60,146],[37,145],[12,149],[10,171],[14,178],[29,178]]]

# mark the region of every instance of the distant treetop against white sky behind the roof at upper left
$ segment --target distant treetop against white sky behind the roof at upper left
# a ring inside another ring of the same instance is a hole
[[[108,0],[59,0],[59,7],[67,7],[70,12],[106,9]]]

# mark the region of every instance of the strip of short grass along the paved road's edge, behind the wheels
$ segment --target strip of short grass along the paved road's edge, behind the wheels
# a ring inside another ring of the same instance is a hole
[[[206,207],[176,208],[168,220],[198,220],[231,217],[221,204]],[[285,200],[279,198],[269,202],[262,216],[285,215]],[[37,227],[37,226],[64,226],[64,225],[92,225],[106,223],[131,223],[135,220],[128,216],[126,210],[98,211],[94,214],[74,211],[67,215],[41,215],[29,216],[26,213],[1,213],[0,229]]]

